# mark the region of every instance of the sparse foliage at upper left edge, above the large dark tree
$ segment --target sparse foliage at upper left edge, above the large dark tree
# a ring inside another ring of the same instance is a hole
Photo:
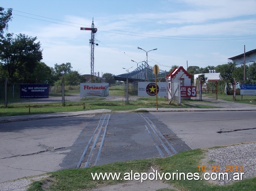
[[[8,22],[12,20],[12,9],[4,11],[3,7],[0,7],[0,39],[4,38],[4,30],[8,30]]]

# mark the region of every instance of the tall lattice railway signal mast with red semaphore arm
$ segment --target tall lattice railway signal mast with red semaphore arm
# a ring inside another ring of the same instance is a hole
[[[93,18],[92,18],[92,28],[81,27],[80,30],[92,31],[91,39],[89,41],[91,43],[91,83],[93,83],[94,81],[94,34],[97,32],[97,28],[94,28]],[[95,45],[98,46],[98,43],[96,43]]]

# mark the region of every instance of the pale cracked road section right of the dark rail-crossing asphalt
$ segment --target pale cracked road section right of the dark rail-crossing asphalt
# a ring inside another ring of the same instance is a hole
[[[191,148],[256,141],[256,111],[153,112]]]

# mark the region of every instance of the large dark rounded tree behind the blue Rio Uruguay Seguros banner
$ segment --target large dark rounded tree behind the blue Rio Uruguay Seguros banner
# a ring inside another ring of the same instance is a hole
[[[2,41],[0,60],[9,78],[16,79],[22,73],[26,79],[26,76],[33,73],[36,64],[42,59],[40,42],[36,43],[36,39],[36,37],[19,34],[15,39],[8,36]]]

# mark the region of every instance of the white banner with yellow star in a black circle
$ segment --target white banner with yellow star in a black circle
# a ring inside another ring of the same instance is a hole
[[[157,83],[157,95],[158,97],[164,97],[167,95],[167,83]],[[156,87],[155,82],[138,82],[138,96],[155,96]]]

